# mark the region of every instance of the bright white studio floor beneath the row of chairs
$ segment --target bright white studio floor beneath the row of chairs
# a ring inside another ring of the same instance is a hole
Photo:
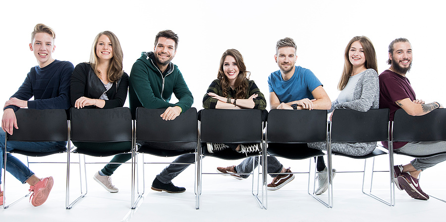
[[[22,157],[20,157],[22,158]],[[173,159],[146,155],[146,162],[167,162]],[[54,155],[51,161],[64,161],[66,154]],[[109,161],[111,158],[88,158],[87,161]],[[41,160],[41,159],[33,159]],[[406,157],[395,158],[395,164],[407,163]],[[47,160],[50,161],[50,160]],[[218,166],[230,166],[240,161],[224,161],[216,158],[205,158],[204,171],[215,172]],[[334,158],[337,171],[361,170],[363,161],[343,157]],[[308,160],[290,161],[280,159],[292,172],[308,169]],[[78,187],[78,172],[72,165],[72,188]],[[93,179],[94,173],[102,164],[87,166],[88,193],[71,210],[65,209],[65,164],[33,164],[31,169],[39,177],[53,176],[55,184],[47,202],[40,207],[33,207],[27,199],[0,209],[1,222],[21,221],[107,221],[107,222],[192,222],[192,221],[444,221],[440,215],[446,203],[434,198],[428,201],[410,198],[404,191],[395,190],[396,205],[389,207],[361,193],[362,175],[358,173],[337,174],[334,180],[334,208],[329,209],[307,194],[307,176],[298,174],[296,178],[277,191],[268,192],[268,210],[262,210],[251,195],[251,179],[237,180],[219,175],[203,176],[203,192],[200,210],[195,209],[194,167],[189,167],[173,180],[175,185],[186,187],[186,192],[170,194],[150,189],[153,178],[166,165],[146,165],[146,193],[137,209],[130,209],[130,165],[121,166],[113,175],[112,181],[120,189],[118,193],[109,193]],[[376,166],[385,170],[388,160],[381,157]],[[444,164],[425,171],[421,185],[431,195],[446,198],[444,179],[436,177]],[[77,174],[76,174],[77,173]],[[386,192],[388,173],[380,173],[375,177],[377,194],[388,198]],[[28,186],[20,184],[7,174],[8,200],[19,194],[25,194]],[[269,182],[271,178],[269,178]],[[76,184],[74,184],[76,182]],[[321,195],[327,197],[327,194]],[[74,191],[72,192],[72,198]]]

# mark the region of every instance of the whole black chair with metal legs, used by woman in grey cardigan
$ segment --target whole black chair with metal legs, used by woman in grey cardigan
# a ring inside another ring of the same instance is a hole
[[[394,190],[392,183],[390,183],[390,201],[386,201],[374,194],[372,194],[372,182],[373,173],[381,172],[374,170],[375,157],[387,152],[380,148],[375,148],[375,150],[365,156],[350,156],[346,154],[336,153],[332,151],[333,142],[377,142],[377,141],[389,141],[389,109],[370,109],[367,112],[360,112],[351,109],[336,109],[333,113],[331,127],[330,127],[330,142],[328,149],[328,164],[331,172],[332,169],[332,155],[339,155],[344,157],[349,157],[353,159],[364,159],[364,170],[363,171],[348,171],[348,172],[336,172],[336,173],[352,173],[361,172],[363,173],[362,180],[362,192],[370,197],[375,198],[389,206],[394,205]],[[371,167],[371,181],[368,191],[364,191],[364,185],[366,180],[366,168],[367,159],[372,159]],[[388,171],[385,171],[388,172]],[[392,178],[392,172],[390,172],[390,178]],[[332,180],[329,181],[329,188],[333,189]],[[333,199],[333,194],[329,198]],[[333,201],[332,201],[333,206]]]

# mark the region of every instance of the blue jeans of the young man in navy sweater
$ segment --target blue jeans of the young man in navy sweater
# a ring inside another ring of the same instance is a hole
[[[0,128],[0,166],[4,168],[4,139],[5,133]],[[61,142],[21,142],[21,141],[8,141],[6,150],[10,151],[13,149],[29,151],[29,152],[53,152],[66,147],[66,141]],[[20,182],[25,183],[25,181],[34,175],[34,173],[20,161],[19,159],[12,156],[10,153],[6,154],[6,171],[8,171],[12,176],[20,180]],[[0,171],[0,184],[1,184],[1,171]]]

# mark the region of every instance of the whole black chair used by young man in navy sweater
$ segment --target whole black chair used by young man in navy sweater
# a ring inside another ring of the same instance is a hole
[[[19,129],[14,129],[13,134],[6,133],[4,145],[6,147],[7,141],[27,141],[27,142],[47,142],[47,141],[68,141],[68,124],[66,112],[63,109],[19,109],[15,112],[17,118],[17,126]],[[6,209],[10,205],[16,203],[29,196],[30,193],[21,197],[20,199],[6,204],[6,157],[7,153],[18,153],[25,156],[42,157],[55,153],[63,153],[66,147],[54,152],[27,152],[18,149],[11,150],[4,153],[4,174],[3,174],[3,208]],[[38,162],[35,162],[38,163]],[[64,162],[63,162],[64,163]]]

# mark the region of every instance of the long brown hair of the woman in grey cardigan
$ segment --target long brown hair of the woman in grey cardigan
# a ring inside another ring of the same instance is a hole
[[[342,70],[342,75],[339,80],[339,84],[337,85],[337,89],[342,90],[347,85],[348,79],[353,70],[353,65],[350,63],[348,59],[348,52],[350,51],[351,44],[359,41],[362,45],[362,49],[364,50],[365,56],[365,64],[366,69],[374,69],[378,73],[378,62],[376,61],[376,52],[375,47],[373,47],[372,41],[365,36],[355,36],[353,39],[348,42],[347,47],[345,47],[344,51],[344,69]]]

